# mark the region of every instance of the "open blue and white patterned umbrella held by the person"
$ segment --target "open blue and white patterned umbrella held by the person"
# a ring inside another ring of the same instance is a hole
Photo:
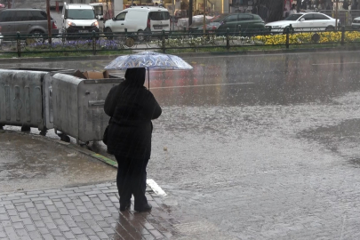
[[[127,68],[192,69],[193,67],[178,56],[159,52],[139,52],[119,56],[105,67],[105,69],[116,70],[124,70]],[[150,89],[149,73],[148,89]]]

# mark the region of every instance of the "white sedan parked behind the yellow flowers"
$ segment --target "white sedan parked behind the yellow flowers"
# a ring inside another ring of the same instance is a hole
[[[320,12],[294,13],[284,20],[269,22],[265,25],[270,33],[284,33],[292,25],[292,31],[331,31],[335,29],[336,20]],[[338,20],[338,27],[340,20]]]

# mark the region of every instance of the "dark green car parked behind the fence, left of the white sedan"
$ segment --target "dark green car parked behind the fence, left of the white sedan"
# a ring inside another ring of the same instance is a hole
[[[203,31],[204,24],[196,22],[188,30],[191,32]],[[214,31],[216,33],[225,33],[227,28],[230,34],[236,34],[240,31],[242,33],[256,34],[265,29],[265,22],[259,15],[252,13],[224,13],[206,20],[205,28],[207,31]]]

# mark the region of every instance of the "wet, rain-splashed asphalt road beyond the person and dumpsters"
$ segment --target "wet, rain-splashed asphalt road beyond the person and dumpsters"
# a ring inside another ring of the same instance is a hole
[[[148,178],[176,228],[191,239],[358,239],[359,53],[185,57],[194,70],[151,71],[163,115]]]

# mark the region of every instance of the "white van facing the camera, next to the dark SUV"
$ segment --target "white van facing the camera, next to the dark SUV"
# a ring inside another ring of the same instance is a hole
[[[99,17],[90,4],[64,3],[61,18],[64,34],[99,32]]]

